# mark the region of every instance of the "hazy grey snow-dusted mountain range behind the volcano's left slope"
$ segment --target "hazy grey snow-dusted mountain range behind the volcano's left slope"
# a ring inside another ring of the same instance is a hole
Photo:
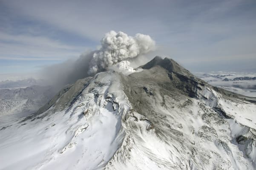
[[[0,89],[0,116],[33,113],[48,102],[52,87],[33,85],[27,88]]]

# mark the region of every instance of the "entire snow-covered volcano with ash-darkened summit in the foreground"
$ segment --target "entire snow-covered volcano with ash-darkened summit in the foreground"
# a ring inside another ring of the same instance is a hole
[[[213,87],[172,59],[100,72],[0,126],[0,169],[253,170],[256,98]]]

